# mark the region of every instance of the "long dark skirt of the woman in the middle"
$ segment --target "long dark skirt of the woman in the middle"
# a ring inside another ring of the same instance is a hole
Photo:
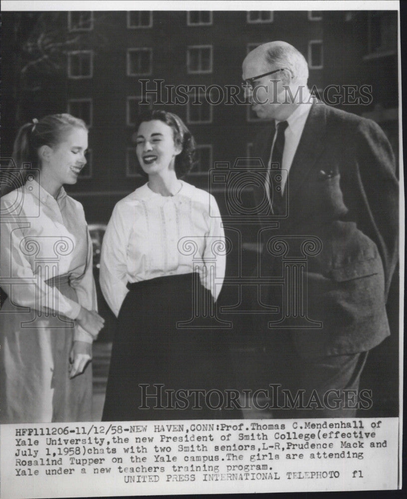
[[[102,420],[238,417],[224,410],[224,390],[230,387],[226,331],[213,327],[213,299],[199,275],[158,277],[128,287]]]

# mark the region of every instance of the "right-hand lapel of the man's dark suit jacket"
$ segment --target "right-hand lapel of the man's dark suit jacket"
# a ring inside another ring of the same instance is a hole
[[[292,206],[291,200],[322,153],[326,145],[326,132],[326,106],[314,102],[288,174],[288,206]]]

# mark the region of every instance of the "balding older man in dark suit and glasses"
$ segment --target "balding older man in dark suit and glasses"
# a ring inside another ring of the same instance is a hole
[[[306,60],[292,45],[260,45],[242,70],[253,111],[269,121],[254,142],[267,169],[265,188],[254,193],[260,204],[266,192],[270,204],[264,242],[295,246],[308,237],[319,245],[307,257],[309,324],[297,314],[291,323],[286,317],[288,327],[271,320],[269,328],[253,314],[268,380],[294,401],[273,399],[273,417],[353,417],[367,353],[390,334],[386,300],[398,249],[394,155],[376,123],[310,96]],[[272,176],[276,166],[287,175]],[[282,263],[264,244],[262,275],[281,275]],[[270,284],[262,299],[284,315],[283,296],[282,286]]]

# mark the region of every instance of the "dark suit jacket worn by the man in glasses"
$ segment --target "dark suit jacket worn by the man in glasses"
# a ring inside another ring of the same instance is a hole
[[[265,167],[273,135],[271,123],[254,143]],[[299,355],[312,358],[373,348],[390,334],[385,305],[398,250],[398,183],[385,134],[371,120],[315,102],[285,195],[287,216],[278,229],[265,231],[264,239],[297,235],[316,236],[322,242],[322,250],[307,259],[307,307],[308,317],[322,321],[323,327],[296,328],[293,323],[293,329],[286,330]],[[254,196],[260,202],[263,190]],[[261,272],[282,274],[282,259],[266,246]],[[268,289],[270,304],[282,310],[281,289]]]

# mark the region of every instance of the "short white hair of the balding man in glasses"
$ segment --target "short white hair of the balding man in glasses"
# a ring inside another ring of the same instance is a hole
[[[308,64],[305,57],[295,47],[285,41],[270,41],[258,46],[264,57],[265,64],[270,69],[278,67],[291,71],[299,84],[307,84]]]

